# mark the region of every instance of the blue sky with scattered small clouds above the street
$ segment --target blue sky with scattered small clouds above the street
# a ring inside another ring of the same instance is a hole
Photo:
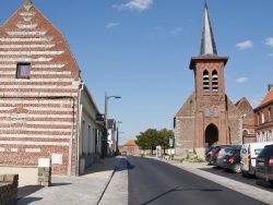
[[[2,25],[25,0],[0,0]],[[147,129],[173,130],[194,91],[205,0],[32,0],[63,34],[104,113],[120,121],[119,144]],[[273,83],[273,1],[206,0],[225,89],[259,106]]]

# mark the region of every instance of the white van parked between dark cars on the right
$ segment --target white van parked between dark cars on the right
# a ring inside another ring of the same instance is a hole
[[[273,144],[271,142],[258,142],[242,144],[240,149],[240,167],[242,173],[256,173],[256,158],[265,145]]]

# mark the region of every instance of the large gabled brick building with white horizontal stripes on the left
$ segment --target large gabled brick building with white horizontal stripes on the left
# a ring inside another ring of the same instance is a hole
[[[75,176],[100,153],[99,113],[63,35],[26,0],[0,27],[0,165]]]

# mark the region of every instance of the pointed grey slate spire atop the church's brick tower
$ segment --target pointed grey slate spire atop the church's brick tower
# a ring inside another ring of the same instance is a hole
[[[200,56],[217,56],[206,3],[204,4]]]

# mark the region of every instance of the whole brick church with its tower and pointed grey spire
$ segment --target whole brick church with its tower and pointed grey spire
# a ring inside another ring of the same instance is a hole
[[[227,60],[228,57],[217,56],[205,4],[200,56],[190,60],[194,91],[175,116],[175,155],[186,155],[194,148],[203,158],[211,145],[242,144],[242,133],[248,133],[246,140],[254,135],[248,100],[242,98],[235,105],[225,93]]]

